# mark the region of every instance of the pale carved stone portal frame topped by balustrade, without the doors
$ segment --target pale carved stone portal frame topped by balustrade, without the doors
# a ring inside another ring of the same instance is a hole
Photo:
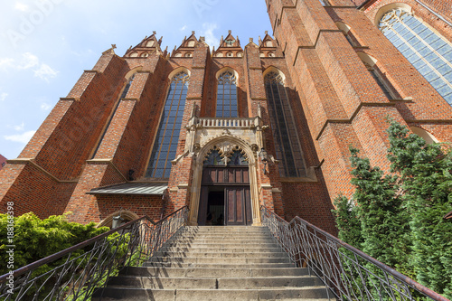
[[[193,156],[193,182],[190,201],[189,223],[197,224],[202,183],[202,165],[204,158],[214,148],[227,158],[240,148],[249,162],[250,198],[253,225],[260,224],[259,191],[257,174],[257,152],[263,145],[262,125],[255,118],[197,118],[193,117],[187,125],[185,154]]]

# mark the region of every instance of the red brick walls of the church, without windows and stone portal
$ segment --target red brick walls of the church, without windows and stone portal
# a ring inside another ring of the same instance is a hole
[[[404,1],[450,39],[450,29],[438,18],[413,0]],[[448,8],[441,6],[444,1],[426,0],[432,9],[447,13]],[[68,97],[53,108],[20,158],[0,171],[0,211],[5,212],[5,202],[13,200],[17,213],[33,211],[40,217],[73,212],[72,221],[102,221],[122,208],[159,219],[164,206],[161,196],[87,193],[126,183],[130,169],[135,171],[135,180],[153,180],[145,178],[146,166],[169,75],[180,67],[190,71],[191,78],[176,155],[182,156],[172,167],[165,214],[190,205],[193,156],[185,153],[185,125],[193,111],[198,117],[215,116],[216,73],[221,69],[238,73],[240,117],[254,117],[260,107],[263,123],[269,126],[264,131],[265,147],[269,155],[275,154],[263,81],[263,72],[272,67],[285,75],[306,167],[315,171],[317,180],[281,179],[278,164],[273,163],[264,174],[258,160],[259,203],[287,220],[298,215],[335,233],[332,200],[340,193],[353,194],[349,146],[360,148],[373,165],[387,170],[387,117],[450,141],[452,108],[373,24],[377,11],[394,1],[370,1],[363,11],[355,7],[361,0],[330,2],[334,6],[324,7],[318,0],[267,0],[278,41],[275,57],[261,57],[260,52],[265,55],[268,50],[252,41],[243,46],[243,57],[231,58],[212,57],[203,42],[196,44],[191,58],[171,57],[166,52],[120,58],[104,52],[93,70],[83,72]],[[349,25],[359,45],[351,46],[335,22]],[[379,70],[402,99],[386,99],[360,52],[377,60]],[[139,71],[126,98],[118,99],[126,74],[135,69]]]

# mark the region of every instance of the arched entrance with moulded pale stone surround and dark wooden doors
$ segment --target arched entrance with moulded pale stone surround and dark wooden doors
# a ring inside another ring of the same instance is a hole
[[[220,217],[223,225],[260,225],[257,149],[229,135],[199,149],[193,162],[190,225],[221,224]]]

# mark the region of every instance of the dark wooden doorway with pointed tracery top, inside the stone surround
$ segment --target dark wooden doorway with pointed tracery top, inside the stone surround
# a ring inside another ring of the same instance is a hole
[[[238,146],[213,148],[202,164],[198,225],[251,225],[249,162]]]

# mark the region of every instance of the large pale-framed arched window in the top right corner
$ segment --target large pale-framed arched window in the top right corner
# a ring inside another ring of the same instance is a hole
[[[452,45],[401,8],[383,14],[381,32],[452,105]]]

